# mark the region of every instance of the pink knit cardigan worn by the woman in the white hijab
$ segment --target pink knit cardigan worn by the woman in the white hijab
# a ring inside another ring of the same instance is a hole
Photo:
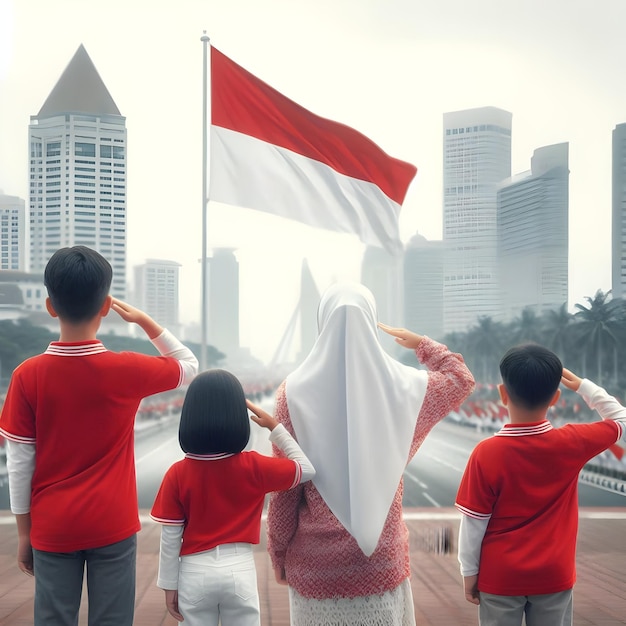
[[[474,389],[474,378],[460,354],[428,337],[415,352],[429,369],[428,386],[407,463],[433,426],[450,411],[458,410]],[[277,391],[276,417],[293,435],[288,393],[283,382]],[[381,427],[393,428],[393,415],[382,418]],[[274,453],[281,454],[277,448]],[[312,482],[273,493],[267,526],[274,568],[284,567],[289,585],[307,598],[355,598],[395,589],[410,575],[402,491],[400,481],[378,546],[369,558],[331,513]]]

